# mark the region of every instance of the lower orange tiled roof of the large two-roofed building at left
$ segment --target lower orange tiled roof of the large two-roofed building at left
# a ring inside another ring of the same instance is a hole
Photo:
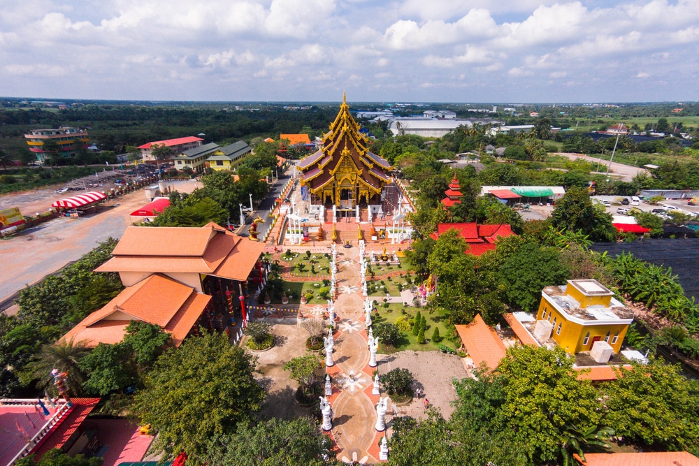
[[[172,336],[176,347],[189,334],[205,310],[212,310],[211,296],[195,291],[161,274],[128,286],[100,310],[89,314],[66,333],[63,340],[116,344],[124,339],[131,321],[152,323]]]

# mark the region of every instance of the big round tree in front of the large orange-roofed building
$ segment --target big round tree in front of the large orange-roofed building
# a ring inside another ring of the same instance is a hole
[[[153,451],[164,460],[186,451],[190,460],[205,463],[212,437],[234,432],[260,409],[265,393],[252,376],[256,361],[222,333],[167,349],[134,400],[141,421],[158,432]]]

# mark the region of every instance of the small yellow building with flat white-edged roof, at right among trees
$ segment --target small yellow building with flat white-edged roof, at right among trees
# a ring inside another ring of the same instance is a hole
[[[631,322],[633,312],[606,286],[593,279],[568,280],[542,290],[535,333],[547,333],[568,354],[591,351],[600,340],[619,353]]]

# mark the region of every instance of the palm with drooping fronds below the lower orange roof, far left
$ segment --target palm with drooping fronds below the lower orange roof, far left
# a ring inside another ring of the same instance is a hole
[[[84,341],[59,340],[54,344],[45,344],[38,355],[29,364],[29,371],[38,379],[39,388],[48,388],[53,382],[51,371],[66,372],[66,388],[71,395],[80,395],[85,374],[80,370],[78,363],[90,349]]]

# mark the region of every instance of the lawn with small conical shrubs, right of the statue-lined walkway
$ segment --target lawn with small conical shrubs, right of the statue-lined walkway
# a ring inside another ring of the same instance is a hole
[[[373,325],[380,322],[396,323],[396,319],[398,319],[399,317],[403,317],[406,315],[414,317],[415,314],[417,314],[417,311],[420,311],[427,319],[427,328],[425,330],[425,340],[427,340],[427,343],[419,344],[417,342],[416,335],[412,335],[412,332],[410,331],[403,332],[403,338],[401,339],[400,344],[398,344],[398,347],[391,348],[387,347],[386,345],[379,344],[380,353],[387,354],[389,352],[394,353],[396,351],[405,350],[438,350],[438,344],[431,341],[431,337],[434,333],[435,328],[439,328],[439,333],[442,336],[442,338],[444,338],[444,340],[442,340],[439,344],[443,344],[451,349],[457,348],[457,345],[454,344],[454,342],[447,340],[447,336],[452,335],[452,333],[449,330],[447,330],[447,324],[449,323],[449,320],[447,319],[447,316],[445,316],[444,314],[439,314],[438,312],[433,312],[432,314],[429,314],[427,310],[424,309],[424,307],[418,308],[412,306],[403,306],[401,304],[389,304],[389,306],[385,308],[383,307],[382,303],[377,304],[378,316],[376,316],[376,314],[373,314],[371,316],[371,321]],[[406,314],[403,314],[401,310],[405,310]],[[456,338],[458,341],[458,337]]]

